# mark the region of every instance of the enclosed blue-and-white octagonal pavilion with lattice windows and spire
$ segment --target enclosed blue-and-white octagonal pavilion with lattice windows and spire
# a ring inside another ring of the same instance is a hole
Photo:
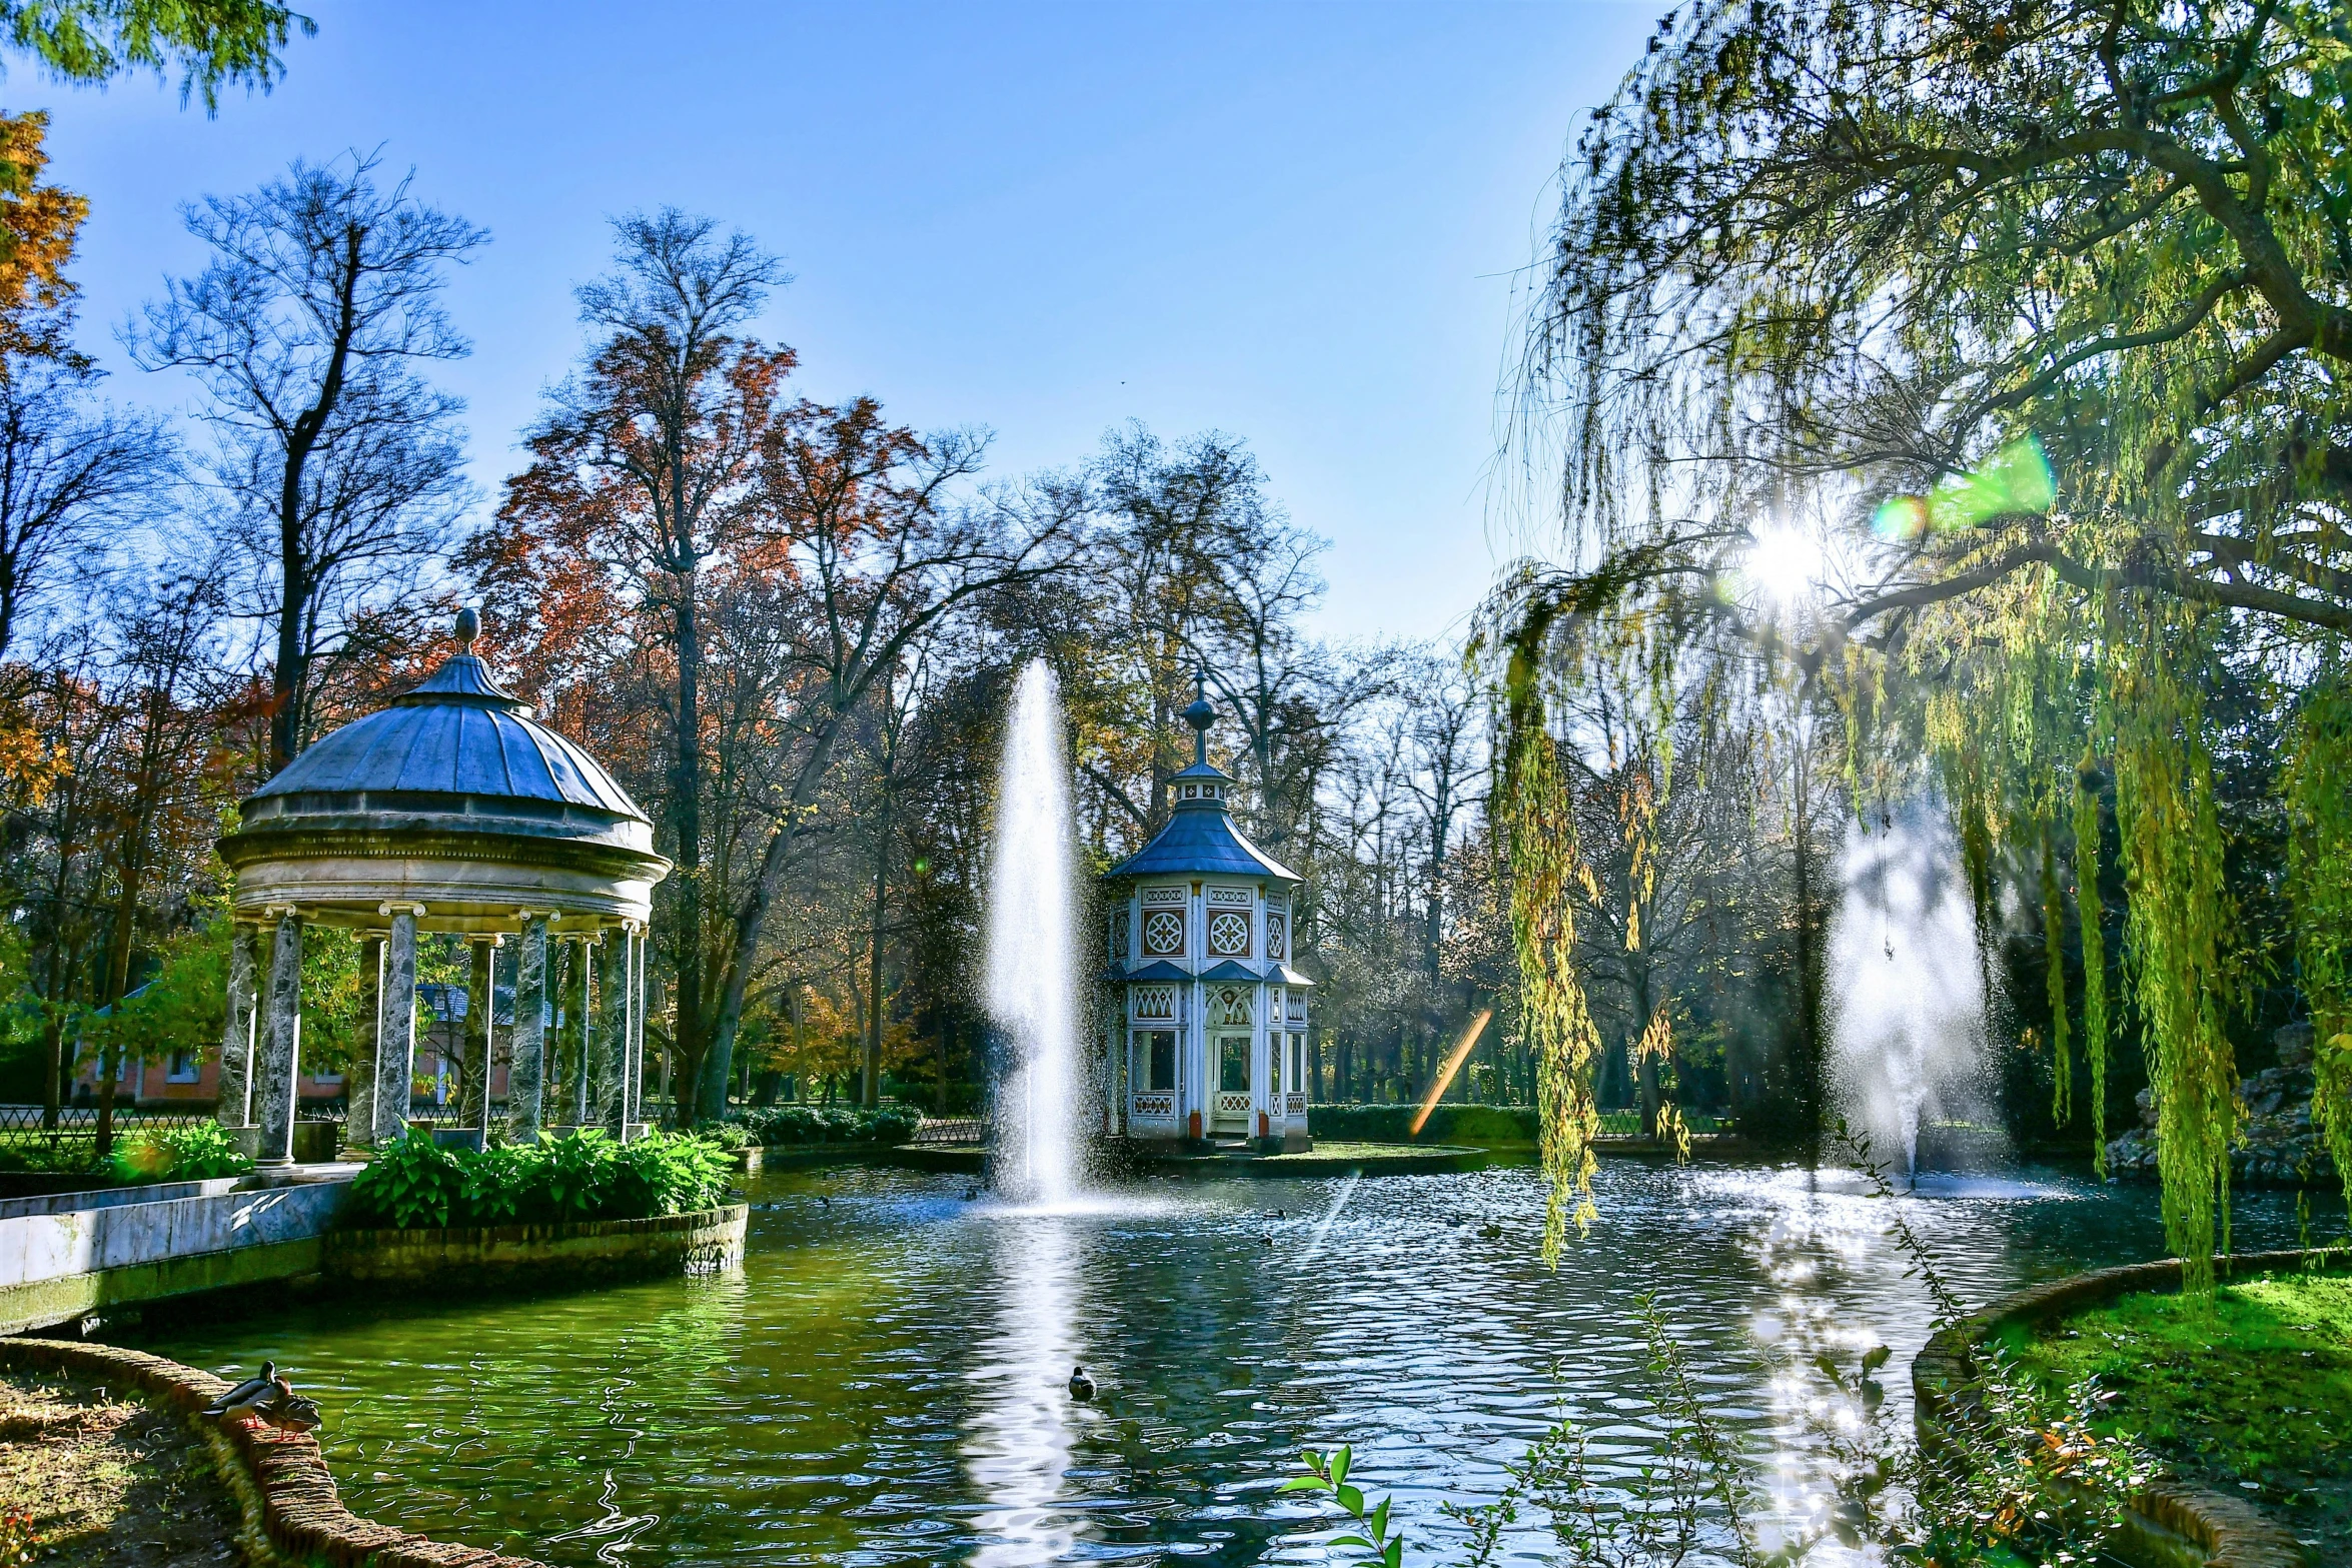
[[[1308,980],[1289,966],[1296,872],[1232,820],[1209,762],[1207,691],[1183,712],[1192,766],[1167,827],[1105,872],[1120,1016],[1103,1060],[1105,1126],[1150,1143],[1305,1150]]]

